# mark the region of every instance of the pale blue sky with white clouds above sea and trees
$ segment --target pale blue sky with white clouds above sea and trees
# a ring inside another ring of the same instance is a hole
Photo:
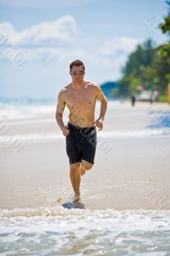
[[[0,0],[0,97],[56,99],[77,59],[84,79],[118,81],[137,44],[164,44],[153,22],[167,12],[163,0]]]

